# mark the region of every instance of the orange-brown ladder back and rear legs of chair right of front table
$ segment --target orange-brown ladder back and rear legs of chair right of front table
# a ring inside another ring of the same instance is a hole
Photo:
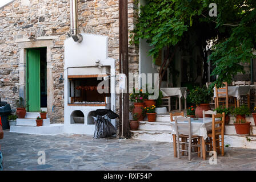
[[[221,121],[215,121],[216,118],[221,118]],[[224,155],[224,129],[225,129],[225,113],[213,114],[213,121],[211,127],[211,135],[213,138],[213,150],[217,152],[217,149],[221,148],[221,154]],[[221,146],[217,146],[221,135]]]

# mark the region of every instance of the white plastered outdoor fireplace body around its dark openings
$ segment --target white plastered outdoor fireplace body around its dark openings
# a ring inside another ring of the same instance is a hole
[[[82,34],[83,42],[74,42],[72,38],[65,40],[65,64],[64,64],[64,132],[74,134],[94,134],[94,125],[87,124],[87,115],[96,109],[105,107],[95,106],[68,106],[69,80],[67,73],[69,68],[86,67],[90,70],[95,67],[96,61],[100,60],[102,67],[110,67],[110,91],[111,91],[111,110],[115,110],[115,60],[107,57],[108,38],[102,35]],[[86,72],[86,71],[85,71]],[[98,74],[101,72],[95,72]],[[87,75],[85,73],[85,75]],[[70,115],[75,110],[80,110],[85,116],[84,124],[71,124]],[[111,120],[115,126],[115,119]]]

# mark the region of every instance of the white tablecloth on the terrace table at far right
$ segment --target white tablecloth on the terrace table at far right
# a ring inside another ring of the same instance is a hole
[[[241,100],[241,96],[247,96],[250,94],[251,86],[229,86],[229,96],[236,97],[237,100]],[[224,92],[225,90],[221,89],[219,92]],[[221,96],[222,94],[219,94]],[[216,97],[215,88],[214,88],[214,97]]]

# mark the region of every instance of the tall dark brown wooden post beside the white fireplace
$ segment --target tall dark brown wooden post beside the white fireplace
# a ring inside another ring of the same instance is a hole
[[[124,138],[130,137],[128,66],[128,3],[119,0],[119,73],[126,75],[127,90],[119,95],[119,137]]]

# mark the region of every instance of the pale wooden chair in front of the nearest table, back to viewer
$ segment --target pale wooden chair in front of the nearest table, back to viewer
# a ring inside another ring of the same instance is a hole
[[[178,118],[178,121],[183,121],[183,122],[179,122],[177,121],[177,117],[175,117],[174,119],[175,121],[175,130],[176,130],[176,140],[177,140],[177,150],[178,150],[178,159],[181,159],[181,155],[180,155],[180,152],[188,152],[188,155],[189,155],[189,160],[191,160],[191,154],[201,154],[202,156],[202,142],[198,142],[197,144],[193,144],[193,139],[197,139],[198,141],[200,141],[200,138],[199,136],[192,136],[191,135],[191,120],[190,118],[185,118],[185,117],[179,117]],[[188,125],[187,129],[188,129],[188,135],[183,135],[183,134],[179,134],[179,125],[184,125],[185,122],[184,121],[187,121],[186,125]],[[179,140],[180,138],[187,138],[186,141],[183,141],[183,140]],[[186,145],[186,148],[180,148],[179,146],[180,145]],[[200,147],[201,150],[200,151],[197,151],[197,152],[192,152],[192,148],[193,147]]]

